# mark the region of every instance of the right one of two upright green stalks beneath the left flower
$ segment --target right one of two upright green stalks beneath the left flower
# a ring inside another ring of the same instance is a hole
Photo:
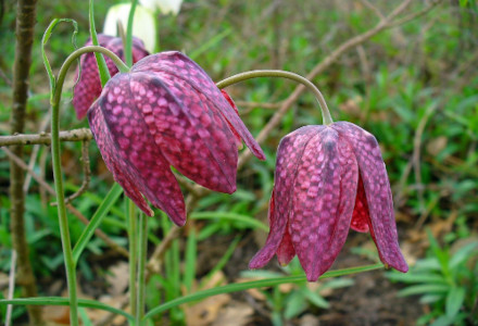
[[[139,218],[139,256],[138,256],[138,310],[136,314],[136,325],[142,325],[142,317],[146,310],[146,259],[148,252],[148,216],[141,214]]]

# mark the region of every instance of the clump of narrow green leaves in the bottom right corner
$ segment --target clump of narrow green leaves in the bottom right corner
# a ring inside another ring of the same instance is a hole
[[[469,325],[476,321],[474,306],[478,299],[478,241],[455,252],[441,248],[428,231],[430,251],[407,273],[388,273],[388,277],[407,286],[399,296],[420,296],[432,310],[418,325]]]

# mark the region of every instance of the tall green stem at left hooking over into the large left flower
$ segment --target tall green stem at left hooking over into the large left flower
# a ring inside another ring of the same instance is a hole
[[[61,170],[60,160],[60,100],[62,97],[63,84],[65,82],[66,72],[70,66],[75,63],[75,61],[84,53],[87,52],[100,52],[113,60],[113,62],[118,66],[120,71],[128,71],[129,68],[123,63],[123,61],[117,58],[113,52],[101,47],[85,47],[74,51],[66,58],[60,73],[56,78],[56,84],[54,86],[53,97],[51,99],[51,155],[53,164],[53,177],[54,177],[54,188],[56,191],[56,202],[58,202],[58,217],[60,224],[60,235],[62,239],[63,253],[65,259],[65,269],[66,269],[66,281],[68,285],[70,293],[70,321],[73,326],[78,326],[78,298],[76,289],[76,272],[75,272],[75,260],[73,258],[72,240],[70,237],[68,220],[66,216],[65,206],[65,196],[63,192],[63,176]]]

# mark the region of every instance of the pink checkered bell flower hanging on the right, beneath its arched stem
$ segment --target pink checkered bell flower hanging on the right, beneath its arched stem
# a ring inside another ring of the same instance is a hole
[[[268,216],[271,231],[251,268],[263,267],[274,254],[285,265],[297,254],[315,281],[352,228],[370,233],[386,266],[408,269],[377,140],[351,123],[305,126],[280,141]]]

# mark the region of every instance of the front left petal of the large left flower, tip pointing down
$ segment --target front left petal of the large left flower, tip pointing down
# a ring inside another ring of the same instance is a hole
[[[100,150],[115,153],[122,171],[134,176],[131,183],[154,206],[181,226],[186,222],[183,193],[131,97],[131,88],[130,74],[118,74],[108,82],[98,99],[106,125],[104,131],[110,134],[115,146]],[[95,123],[91,122],[95,116],[89,113],[90,124]]]

